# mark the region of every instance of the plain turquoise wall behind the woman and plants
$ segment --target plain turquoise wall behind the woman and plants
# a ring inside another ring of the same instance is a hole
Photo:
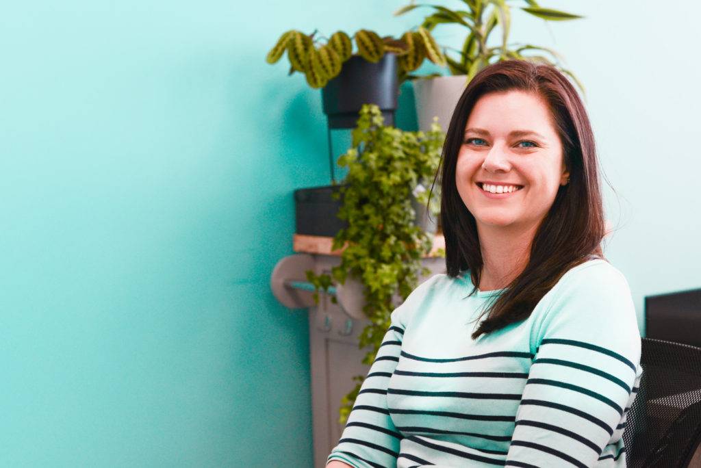
[[[306,315],[268,281],[292,191],[329,182],[325,121],[263,59],[290,27],[397,34],[403,4],[4,6],[0,466],[311,464]],[[557,47],[587,85],[624,197],[607,195],[607,252],[641,316],[644,295],[701,286],[701,7],[665,4],[655,33],[654,2],[548,5],[588,18],[515,13],[512,39]]]

